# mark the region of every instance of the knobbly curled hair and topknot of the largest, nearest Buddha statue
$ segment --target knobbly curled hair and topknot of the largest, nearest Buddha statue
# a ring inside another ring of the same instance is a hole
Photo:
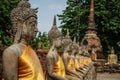
[[[31,8],[28,1],[29,0],[21,0],[17,7],[11,11],[10,18],[13,25],[15,23],[24,22],[29,17],[37,18],[35,11]]]

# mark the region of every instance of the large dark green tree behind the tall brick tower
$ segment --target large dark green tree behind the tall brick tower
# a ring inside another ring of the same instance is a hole
[[[94,0],[94,3],[97,35],[103,52],[109,53],[107,51],[113,46],[116,53],[120,53],[117,45],[120,41],[120,0]],[[71,37],[77,36],[81,41],[88,25],[89,10],[90,0],[68,0],[63,14],[58,15],[63,34],[69,29]]]

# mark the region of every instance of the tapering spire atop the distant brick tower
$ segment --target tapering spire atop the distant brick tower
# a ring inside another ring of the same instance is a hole
[[[94,20],[94,0],[91,0],[90,5],[90,15],[89,15],[89,23],[87,29],[95,29],[95,20]]]

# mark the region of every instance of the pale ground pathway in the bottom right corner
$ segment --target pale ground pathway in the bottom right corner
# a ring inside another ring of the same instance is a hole
[[[120,73],[97,73],[97,80],[120,80]]]

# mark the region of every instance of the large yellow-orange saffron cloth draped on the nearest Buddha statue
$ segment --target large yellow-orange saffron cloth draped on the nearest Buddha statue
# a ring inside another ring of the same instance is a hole
[[[26,46],[18,59],[19,80],[45,80],[40,61],[30,46]]]

